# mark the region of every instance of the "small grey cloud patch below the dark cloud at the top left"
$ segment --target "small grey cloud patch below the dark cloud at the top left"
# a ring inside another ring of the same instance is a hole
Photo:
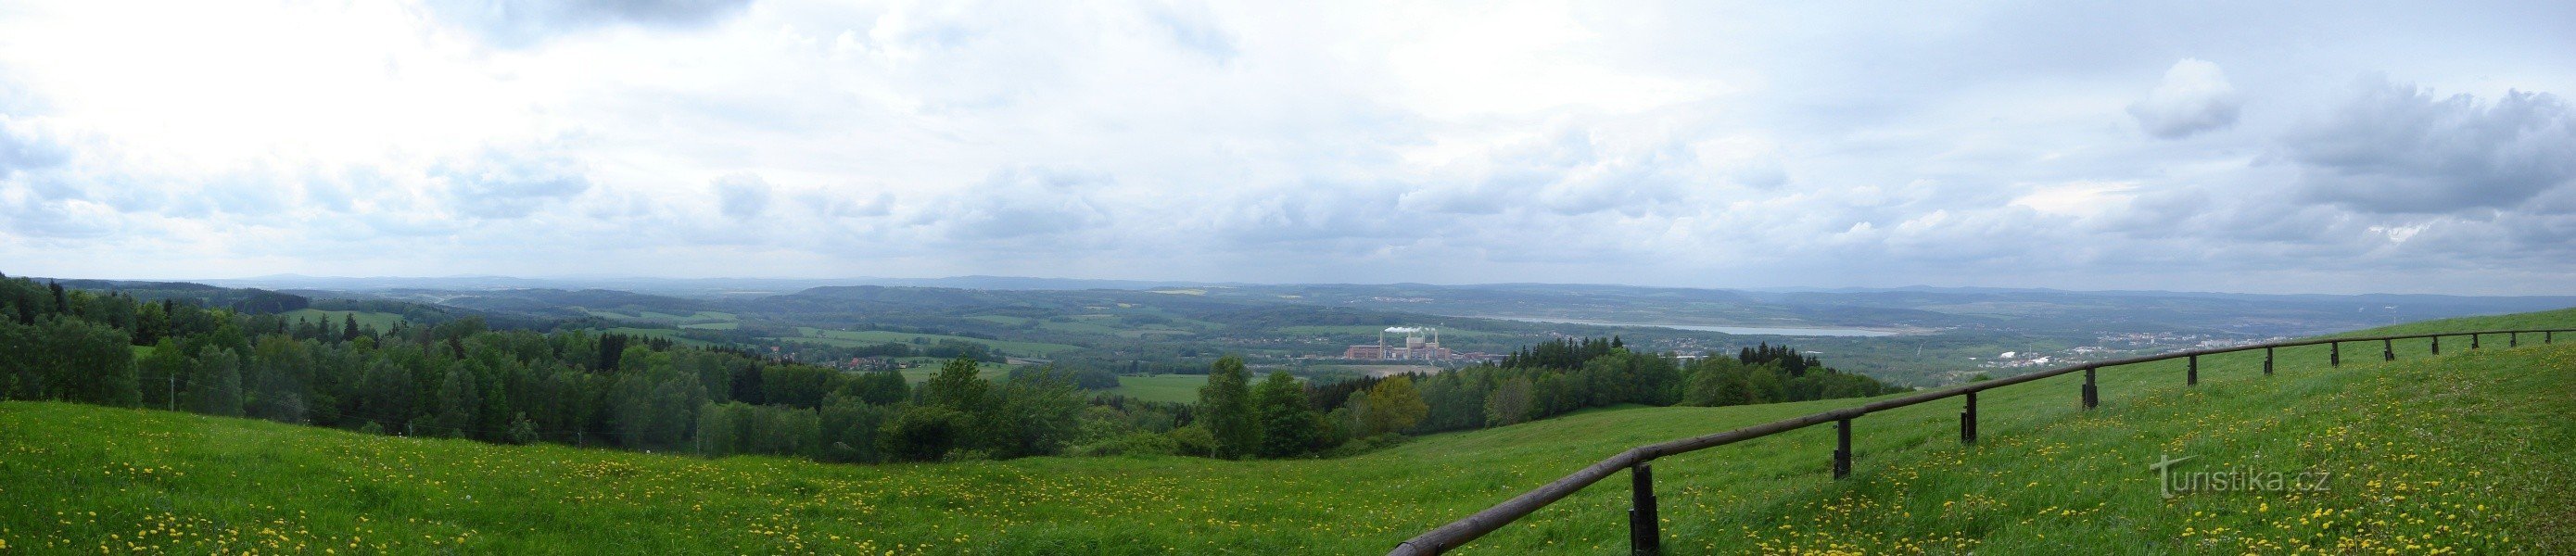
[[[518,219],[590,190],[580,162],[544,149],[484,149],[482,157],[433,167],[430,178],[448,183],[448,206],[477,219]]]

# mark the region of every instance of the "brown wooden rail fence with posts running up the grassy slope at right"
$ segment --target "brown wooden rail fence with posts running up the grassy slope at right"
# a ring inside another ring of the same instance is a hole
[[[2094,371],[2097,368],[2110,368],[2110,366],[2136,366],[2136,363],[2156,363],[2156,360],[2182,358],[2182,360],[2187,360],[2184,384],[2197,386],[2200,384],[2200,355],[2262,350],[2262,373],[2269,376],[2272,373],[2272,350],[2275,348],[2326,345],[2326,366],[2344,366],[2344,345],[2347,342],[2380,342],[2380,358],[2383,360],[2396,360],[2398,358],[2396,355],[2396,340],[2432,337],[2432,353],[2442,355],[2442,337],[2463,337],[2465,335],[2468,337],[2468,348],[2478,350],[2481,340],[2486,335],[2504,335],[2506,345],[2522,345],[2522,335],[2540,335],[2540,342],[2555,342],[2558,332],[2576,332],[2576,329],[2476,329],[2476,332],[2434,332],[2434,335],[2378,335],[2378,337],[2324,337],[2324,340],[2259,342],[2259,345],[2236,345],[2236,348],[2208,348],[2208,350],[2179,350],[2179,353],[2138,355],[2138,358],[2120,358],[2120,360],[2094,360],[2094,363],[2076,363],[2076,366],[2063,366],[2063,368],[2050,368],[2050,371],[2038,371],[2038,373],[2025,373],[2025,376],[2012,376],[2012,378],[1994,378],[1994,381],[1958,384],[1958,386],[1947,386],[1947,389],[1929,389],[1929,391],[1922,391],[1922,394],[1868,402],[1868,404],[1860,404],[1860,407],[1844,407],[1844,409],[1832,409],[1832,412],[1819,412],[1819,414],[1806,414],[1806,417],[1790,417],[1790,420],[1775,420],[1775,422],[1762,422],[1762,425],[1726,430],[1726,432],[1713,432],[1713,435],[1698,435],[1698,438],[1682,438],[1682,440],[1667,440],[1667,443],[1651,443],[1651,445],[1628,448],[1628,450],[1623,450],[1618,456],[1610,456],[1610,458],[1605,458],[1600,463],[1592,463],[1592,466],[1587,466],[1582,471],[1574,471],[1574,474],[1569,474],[1564,479],[1556,479],[1556,481],[1543,484],[1538,489],[1522,492],[1520,497],[1504,499],[1502,505],[1486,507],[1484,512],[1461,517],[1461,520],[1440,525],[1435,530],[1425,530],[1422,535],[1414,535],[1414,538],[1409,538],[1404,543],[1396,543],[1396,548],[1388,551],[1388,556],[1443,553],[1443,551],[1458,548],[1458,546],[1463,546],[1468,541],[1476,541],[1476,538],[1481,538],[1486,533],[1499,530],[1502,525],[1510,525],[1510,523],[1515,523],[1520,517],[1528,517],[1530,512],[1538,512],[1538,507],[1546,507],[1546,505],[1551,505],[1556,499],[1564,499],[1564,497],[1569,497],[1569,494],[1574,494],[1574,492],[1579,492],[1584,486],[1592,486],[1592,484],[1597,484],[1602,479],[1610,479],[1610,474],[1618,474],[1618,471],[1628,471],[1628,481],[1631,481],[1628,551],[1631,553],[1659,553],[1662,551],[1662,533],[1659,533],[1659,523],[1656,523],[1656,512],[1654,512],[1656,510],[1656,505],[1654,505],[1654,458],[1674,456],[1674,453],[1708,450],[1708,448],[1718,448],[1718,445],[1731,445],[1731,443],[1744,443],[1744,440],[1754,440],[1754,438],[1780,435],[1780,432],[1790,432],[1790,430],[1801,430],[1801,427],[1811,427],[1811,425],[1834,422],[1834,479],[1844,479],[1844,476],[1852,474],[1852,420],[1855,417],[1873,414],[1873,412],[1888,412],[1888,409],[1899,409],[1899,407],[1911,407],[1911,404],[1922,404],[1922,402],[1935,402],[1935,399],[1965,396],[1968,404],[1958,414],[1958,440],[1960,443],[1976,443],[1976,394],[1978,391],[2014,386],[2014,384],[2027,384],[2027,381],[2040,381],[2040,378],[2053,378],[2053,376],[2063,376],[2063,373],[2074,373],[2074,371],[2084,371],[2084,389],[2081,389],[2079,404],[2084,409],[2094,409],[2094,407],[2102,404],[2102,394],[2094,386]]]

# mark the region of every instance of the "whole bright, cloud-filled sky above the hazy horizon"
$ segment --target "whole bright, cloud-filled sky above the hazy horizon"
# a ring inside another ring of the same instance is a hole
[[[0,3],[0,273],[2576,293],[2576,3]]]

